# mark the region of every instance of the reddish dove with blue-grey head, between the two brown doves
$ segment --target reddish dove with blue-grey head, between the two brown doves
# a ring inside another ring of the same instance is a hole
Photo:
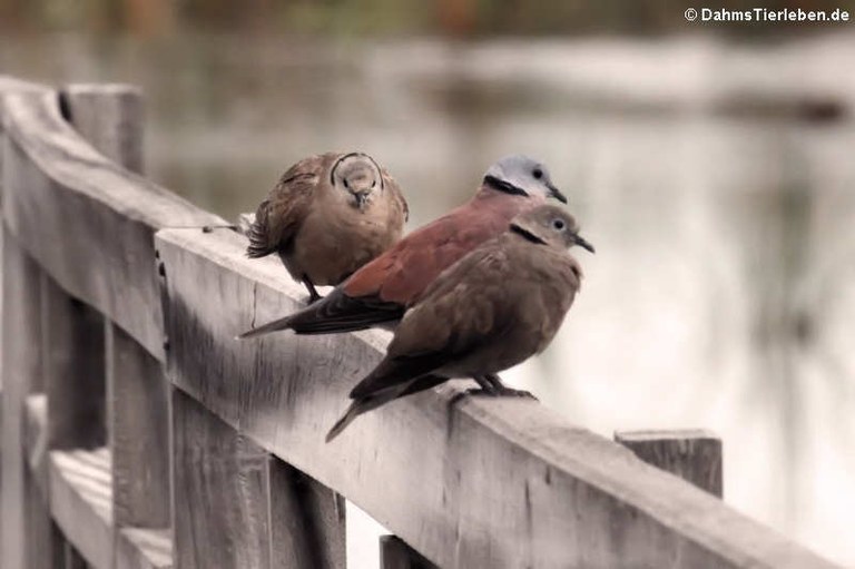
[[[240,337],[277,330],[331,334],[397,322],[442,271],[548,198],[567,203],[542,164],[520,155],[503,158],[490,166],[466,204],[401,239],[324,300]]]

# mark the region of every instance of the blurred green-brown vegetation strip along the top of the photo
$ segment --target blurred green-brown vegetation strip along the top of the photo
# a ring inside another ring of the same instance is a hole
[[[0,0],[0,29],[160,35],[305,32],[343,36],[566,33],[658,35],[692,29],[689,8],[848,10],[855,0]],[[848,22],[841,26],[855,26]],[[744,35],[802,32],[828,24],[720,24]]]

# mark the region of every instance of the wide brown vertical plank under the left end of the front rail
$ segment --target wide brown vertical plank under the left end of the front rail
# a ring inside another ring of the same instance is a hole
[[[173,390],[175,567],[271,565],[269,457]]]

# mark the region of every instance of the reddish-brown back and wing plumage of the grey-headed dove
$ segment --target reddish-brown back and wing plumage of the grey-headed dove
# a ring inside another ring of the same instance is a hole
[[[411,233],[351,275],[343,292],[410,306],[445,268],[504,232],[514,216],[543,202],[482,187],[471,200]]]

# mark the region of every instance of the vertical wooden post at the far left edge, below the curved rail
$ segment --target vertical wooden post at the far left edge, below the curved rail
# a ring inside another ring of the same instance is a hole
[[[4,183],[10,173],[4,170]],[[3,460],[2,552],[4,569],[51,567],[50,517],[36,477],[27,468],[26,398],[41,387],[41,318],[38,266],[13,236],[3,234]]]

